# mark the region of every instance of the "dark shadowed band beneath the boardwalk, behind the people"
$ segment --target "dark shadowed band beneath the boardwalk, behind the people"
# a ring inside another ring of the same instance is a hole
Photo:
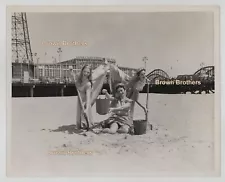
[[[110,93],[109,84],[103,85]],[[200,94],[214,93],[214,82],[207,82],[201,85],[155,85],[150,84],[149,93],[157,94]],[[147,85],[141,93],[147,92]],[[74,83],[12,83],[12,97],[60,97],[77,96],[77,90]]]

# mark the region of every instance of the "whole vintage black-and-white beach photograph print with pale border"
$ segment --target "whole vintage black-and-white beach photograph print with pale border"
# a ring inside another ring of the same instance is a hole
[[[8,7],[7,175],[219,175],[218,9],[184,9]]]

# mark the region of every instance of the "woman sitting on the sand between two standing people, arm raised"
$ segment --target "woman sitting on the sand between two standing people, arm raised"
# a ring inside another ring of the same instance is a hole
[[[107,120],[103,121],[102,126],[104,129],[102,132],[111,134],[116,132],[128,133],[130,127],[132,126],[132,121],[130,119],[130,107],[132,100],[126,97],[124,84],[117,84],[115,90],[115,97],[110,96],[107,90],[102,90],[102,93],[111,100],[109,109],[111,116]]]

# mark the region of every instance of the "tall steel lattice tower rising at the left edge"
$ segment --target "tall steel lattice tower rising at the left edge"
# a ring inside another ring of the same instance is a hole
[[[22,78],[24,71],[28,70],[29,76],[32,76],[34,65],[26,13],[12,13],[11,30],[13,77]]]

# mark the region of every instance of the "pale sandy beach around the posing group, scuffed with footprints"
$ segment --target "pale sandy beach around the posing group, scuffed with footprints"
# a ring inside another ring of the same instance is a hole
[[[145,100],[142,94],[141,103]],[[76,101],[77,97],[12,99],[9,176],[215,174],[214,95],[149,94],[153,130],[141,136],[79,134],[74,129]],[[104,118],[95,114],[96,122]],[[138,106],[135,119],[144,119]]]

